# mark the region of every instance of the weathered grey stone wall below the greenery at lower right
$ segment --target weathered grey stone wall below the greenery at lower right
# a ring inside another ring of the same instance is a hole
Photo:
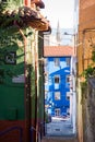
[[[83,99],[84,142],[95,142],[95,79],[88,79]]]

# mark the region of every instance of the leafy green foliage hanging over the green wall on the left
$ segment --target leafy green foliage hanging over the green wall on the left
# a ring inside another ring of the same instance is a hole
[[[13,58],[10,54],[10,48],[22,46],[24,47],[24,38],[33,34],[32,28],[28,27],[27,23],[23,22],[24,17],[21,19],[23,8],[17,8],[19,0],[10,2],[0,2],[0,66],[5,63],[5,55],[9,54],[9,58]],[[20,9],[20,12],[19,12]],[[28,33],[27,28],[31,28]],[[22,31],[22,34],[20,33]],[[3,83],[4,75],[15,75],[12,70],[3,70],[0,68],[0,83]]]

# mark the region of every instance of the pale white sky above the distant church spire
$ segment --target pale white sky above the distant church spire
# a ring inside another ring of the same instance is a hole
[[[47,16],[52,28],[73,28],[74,0],[43,0],[45,9],[41,13]]]

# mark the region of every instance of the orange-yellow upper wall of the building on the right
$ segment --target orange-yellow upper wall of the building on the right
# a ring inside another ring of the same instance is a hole
[[[78,75],[92,63],[92,43],[95,44],[95,1],[80,0]]]

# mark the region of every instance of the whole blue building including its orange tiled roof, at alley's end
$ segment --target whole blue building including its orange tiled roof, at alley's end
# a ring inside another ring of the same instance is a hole
[[[70,116],[72,95],[72,58],[70,46],[46,46],[45,58],[45,110],[52,117]]]

